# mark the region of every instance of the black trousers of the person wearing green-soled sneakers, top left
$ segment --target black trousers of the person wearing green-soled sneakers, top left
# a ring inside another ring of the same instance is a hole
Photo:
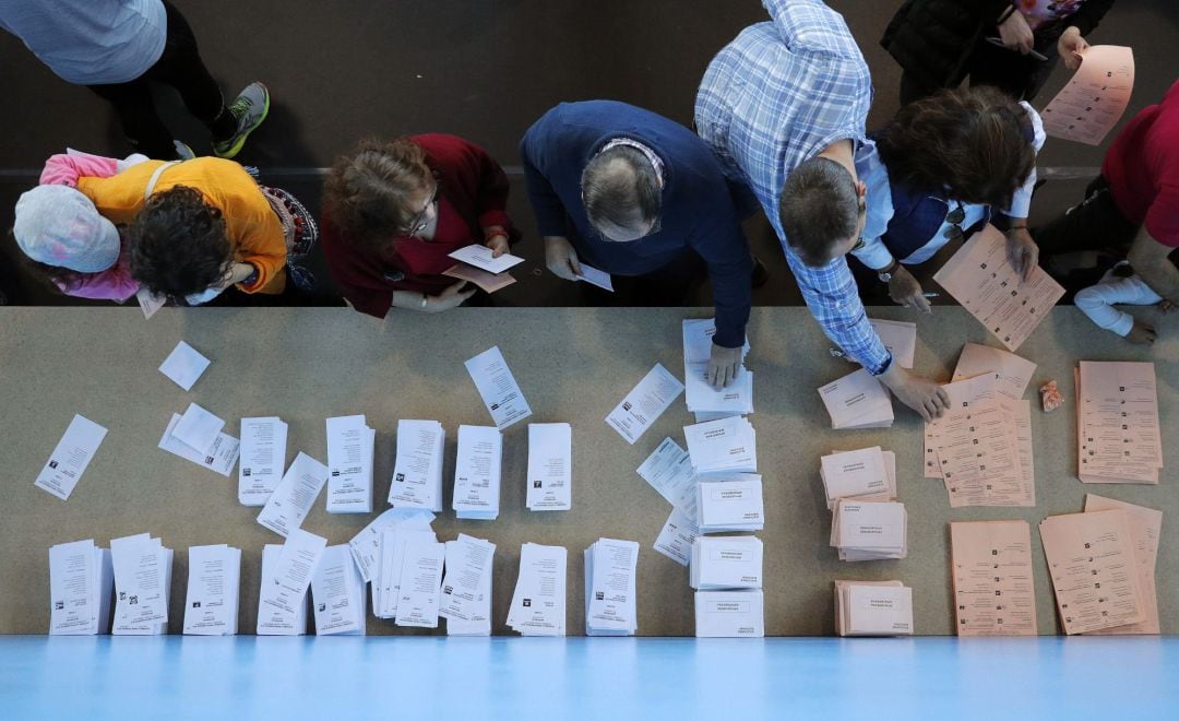
[[[130,83],[91,85],[90,89],[114,105],[123,132],[137,152],[167,159],[176,156],[176,148],[172,133],[156,112],[147,86],[150,80],[174,87],[189,112],[209,127],[215,140],[230,138],[237,131],[237,120],[225,110],[220,87],[200,60],[197,38],[187,20],[170,2],[165,1],[164,7],[167,39],[156,65]]]

